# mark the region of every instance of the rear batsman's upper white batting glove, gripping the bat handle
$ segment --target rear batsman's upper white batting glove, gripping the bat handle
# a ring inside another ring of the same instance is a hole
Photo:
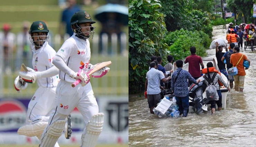
[[[35,72],[33,69],[28,68],[28,72],[19,72],[20,77],[22,80],[28,83],[35,83],[36,79],[41,78],[41,72]]]

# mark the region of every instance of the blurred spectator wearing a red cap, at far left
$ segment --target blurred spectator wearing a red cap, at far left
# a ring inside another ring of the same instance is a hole
[[[6,73],[11,73],[10,61],[14,61],[11,55],[15,48],[15,35],[10,33],[11,26],[9,24],[4,24],[2,30],[3,32],[0,32],[0,54],[3,55],[1,59],[3,59],[4,63],[2,69]]]

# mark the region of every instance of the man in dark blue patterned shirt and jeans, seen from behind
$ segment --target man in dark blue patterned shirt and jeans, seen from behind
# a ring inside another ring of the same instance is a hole
[[[183,61],[176,61],[177,70],[172,74],[172,93],[174,92],[179,106],[179,111],[186,117],[189,112],[189,89],[188,80],[194,84],[200,82],[200,79],[195,81],[188,71],[182,69]]]

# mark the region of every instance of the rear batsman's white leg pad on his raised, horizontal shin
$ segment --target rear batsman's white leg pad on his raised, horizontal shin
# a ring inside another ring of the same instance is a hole
[[[33,125],[25,125],[18,129],[19,135],[25,135],[28,137],[42,135],[45,127],[48,125],[48,122],[37,122]]]

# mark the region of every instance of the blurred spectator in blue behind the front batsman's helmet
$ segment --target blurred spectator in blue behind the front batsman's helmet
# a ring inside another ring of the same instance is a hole
[[[80,8],[76,5],[76,0],[67,0],[67,5],[68,7],[62,12],[61,23],[59,27],[59,32],[61,33],[62,37],[63,37],[62,30],[64,30],[64,26],[66,26],[66,33],[69,36],[72,36],[74,34],[74,32],[70,27],[70,20],[75,12],[80,11]]]

